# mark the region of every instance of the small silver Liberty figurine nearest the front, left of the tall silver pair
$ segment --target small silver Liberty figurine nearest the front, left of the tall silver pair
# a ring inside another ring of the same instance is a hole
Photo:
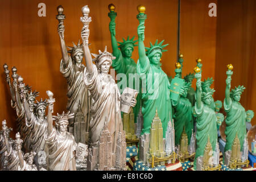
[[[68,119],[73,118],[74,114],[57,113],[57,116],[52,116],[53,113],[53,94],[47,91],[49,96],[48,106],[48,131],[44,134],[47,148],[49,149],[49,170],[51,171],[76,171],[75,150],[76,142],[75,138],[68,129]],[[55,120],[55,126],[53,127],[53,120]]]

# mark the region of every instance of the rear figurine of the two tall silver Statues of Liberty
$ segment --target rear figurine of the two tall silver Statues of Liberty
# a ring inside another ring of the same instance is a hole
[[[57,7],[58,15],[56,19],[59,20],[59,25],[57,31],[60,37],[60,48],[62,59],[60,62],[60,72],[66,78],[68,82],[68,104],[67,110],[71,113],[76,113],[79,109],[79,102],[81,102],[82,113],[84,113],[85,121],[88,121],[89,118],[89,106],[90,99],[88,90],[84,84],[84,72],[85,65],[82,64],[82,58],[84,53],[82,51],[82,46],[80,41],[76,45],[73,43],[73,47],[68,47],[70,50],[67,50],[64,40],[64,19],[65,15],[63,14],[63,7],[60,5]],[[68,55],[70,53],[70,55]],[[74,118],[69,119],[69,132],[73,133],[73,124]]]

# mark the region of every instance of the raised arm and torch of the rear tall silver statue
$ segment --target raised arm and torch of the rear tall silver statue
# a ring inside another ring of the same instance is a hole
[[[65,40],[64,40],[64,30],[65,30],[65,26],[64,26],[65,15],[63,14],[64,9],[60,5],[57,7],[57,11],[59,13],[56,15],[56,19],[59,20],[59,25],[58,25],[57,31],[60,36],[61,54],[62,54],[62,59],[63,59],[64,64],[67,65],[68,64],[68,51],[67,51]]]

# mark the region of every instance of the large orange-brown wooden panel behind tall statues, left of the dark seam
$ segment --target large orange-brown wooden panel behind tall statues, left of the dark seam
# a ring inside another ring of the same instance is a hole
[[[2,1],[0,7],[0,64],[7,63],[9,69],[15,66],[18,74],[24,78],[26,84],[40,92],[38,99],[47,98],[46,90],[51,90],[56,98],[55,114],[65,110],[67,104],[67,83],[59,72],[61,51],[55,16],[56,7],[62,5],[66,19],[65,42],[72,46],[80,38],[82,23],[80,22],[81,7],[90,8],[90,38],[91,52],[110,45],[108,5],[114,3],[117,11],[117,40],[127,35],[137,38],[138,20],[137,5],[146,6],[147,20],[145,23],[145,46],[156,39],[165,39],[170,45],[168,52],[163,54],[163,70],[173,75],[169,65],[174,65],[177,45],[177,0],[164,1],[43,1],[46,3],[46,17],[38,16],[38,4],[42,1]],[[133,53],[135,61],[138,59],[138,48]],[[1,68],[2,69],[2,68]],[[0,120],[7,120],[8,126],[15,129],[15,112],[10,106],[10,92],[5,81],[3,69],[0,79]],[[1,124],[0,124],[1,126]],[[13,134],[13,133],[12,133]],[[14,135],[13,135],[14,136]]]

